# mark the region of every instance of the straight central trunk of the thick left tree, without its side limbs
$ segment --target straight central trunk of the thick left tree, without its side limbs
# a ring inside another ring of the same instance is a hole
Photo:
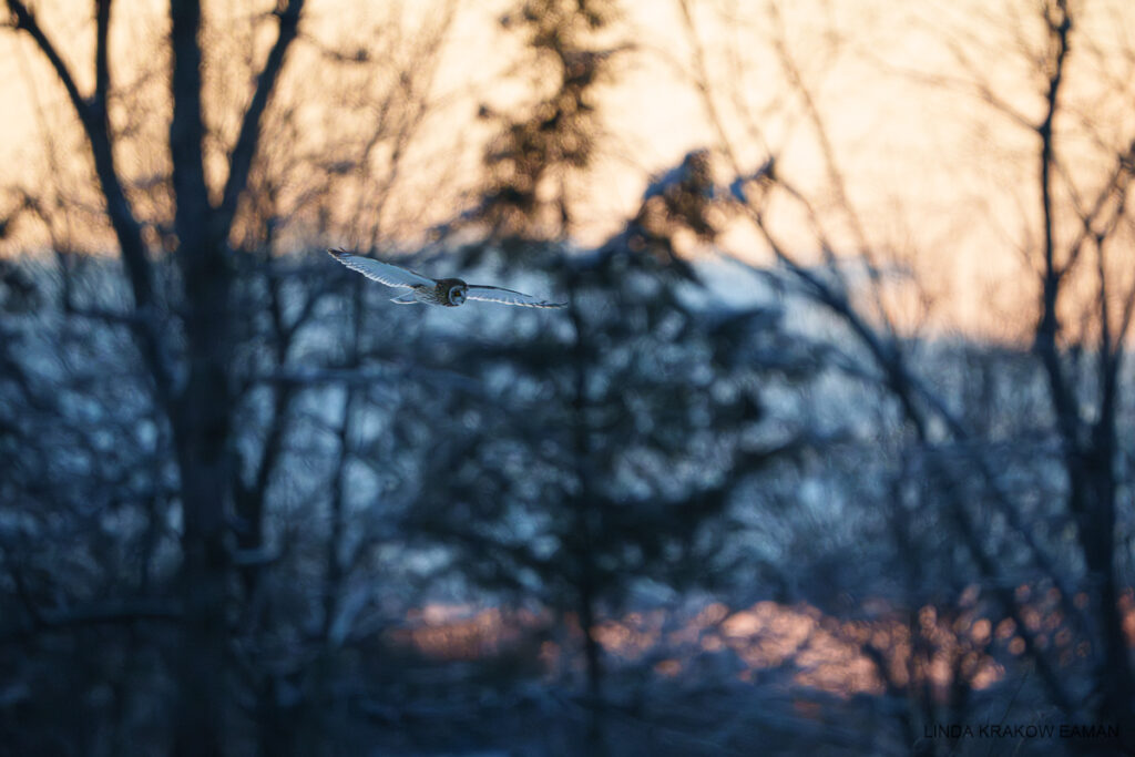
[[[175,752],[222,754],[227,710],[225,516],[232,493],[227,234],[209,201],[201,109],[201,3],[173,0],[174,163],[177,258],[185,288],[186,372],[174,411],[182,495],[180,703]]]

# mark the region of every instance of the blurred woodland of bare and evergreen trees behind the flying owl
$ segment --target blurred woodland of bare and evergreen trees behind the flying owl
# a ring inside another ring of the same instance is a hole
[[[925,727],[997,718],[1135,737],[1135,138],[1066,104],[1067,68],[1100,65],[1087,42],[1081,62],[1075,3],[1040,3],[1017,40],[1025,110],[951,48],[951,85],[1033,138],[1031,350],[898,322],[919,281],[867,230],[777,2],[745,31],[789,84],[783,116],[709,75],[700,24],[729,3],[675,3],[718,138],[591,250],[573,233],[605,149],[598,93],[649,51],[615,0],[510,3],[529,98],[481,107],[476,196],[410,251],[404,197],[429,192],[404,187],[407,155],[456,2],[384,18],[375,54],[306,35],[303,0],[229,35],[173,0],[162,67],[137,83],[111,76],[110,0],[93,76],[31,5],[6,6],[67,92],[87,175],[6,187],[0,209],[0,235],[52,242],[0,261],[0,750],[968,754],[990,745]],[[338,109],[313,117],[280,86],[299,56]],[[743,140],[726,101],[751,109]],[[781,117],[821,146],[821,187],[762,132]],[[334,128],[297,149],[312,118]],[[1085,136],[1086,178],[1063,146]],[[77,218],[117,254],[90,254]],[[724,252],[738,226],[771,264]],[[323,258],[344,242],[529,277],[570,306],[394,308]],[[806,659],[739,680],[734,653],[698,647],[670,678],[665,642],[637,664],[604,647],[605,623],[697,597],[848,621],[825,630],[875,693],[809,690]],[[464,665],[392,640],[455,599],[537,621],[510,615],[520,641]],[[905,631],[863,632],[883,622]]]

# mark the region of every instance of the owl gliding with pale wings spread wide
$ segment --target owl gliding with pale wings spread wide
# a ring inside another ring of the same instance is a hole
[[[409,287],[410,292],[390,300],[400,305],[424,303],[428,305],[445,305],[456,308],[465,300],[482,302],[499,302],[505,305],[521,308],[565,308],[565,302],[545,302],[530,294],[513,292],[498,286],[482,284],[465,284],[460,278],[432,279],[417,274],[409,268],[384,263],[372,258],[361,258],[344,250],[328,250],[331,258],[353,271],[359,271],[369,279],[386,286]]]

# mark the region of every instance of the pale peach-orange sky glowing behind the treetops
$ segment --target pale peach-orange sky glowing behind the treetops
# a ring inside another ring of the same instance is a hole
[[[302,94],[293,100],[301,103],[316,96],[303,93],[318,79],[319,58],[312,52],[318,47],[396,56],[400,44],[437,22],[446,2],[379,7],[311,0],[305,39],[292,53],[281,87]],[[424,226],[445,220],[470,201],[463,194],[469,188],[464,178],[477,173],[488,134],[476,119],[477,108],[506,108],[524,92],[526,72],[515,65],[519,40],[497,24],[508,5],[456,3],[430,83],[436,113],[411,145],[402,190],[385,212]],[[600,242],[634,212],[653,173],[676,165],[688,150],[708,146],[731,154],[742,168],[756,168],[775,152],[777,168],[831,219],[825,230],[854,247],[826,169],[826,151],[873,249],[917,274],[920,296],[934,303],[935,322],[1011,337],[1020,326],[1022,302],[1035,293],[1029,271],[1040,208],[1039,142],[1015,120],[1039,123],[1043,113],[1043,78],[1029,60],[1043,50],[1043,28],[1032,12],[1035,5],[690,0],[687,16],[679,0],[624,0],[623,17],[608,34],[613,43],[633,49],[619,59],[613,83],[600,93],[607,137],[592,170],[574,185],[582,219],[578,241]],[[1075,65],[1065,90],[1071,115],[1058,127],[1069,134],[1068,170],[1091,196],[1107,169],[1109,150],[1135,133],[1135,108],[1129,107],[1135,94],[1135,5],[1079,5],[1086,12],[1076,30],[1081,36],[1074,37]],[[234,39],[249,42],[253,57],[262,56],[270,28],[253,27],[251,19],[270,7],[207,3],[207,24],[221,34],[232,31]],[[87,91],[91,3],[44,0],[35,8]],[[165,30],[163,6],[158,0],[120,2],[114,24],[116,81],[137,81],[138,72],[152,64],[146,41],[160,39]],[[228,48],[225,54],[244,49]],[[794,67],[796,85],[780,53]],[[207,59],[207,76],[217,77],[218,86],[238,101],[246,91],[242,87],[251,84],[230,76],[241,69],[229,60]],[[716,124],[707,116],[699,83],[716,109]],[[323,94],[345,96],[333,84]],[[994,98],[1002,108],[990,106]],[[45,134],[65,155],[77,144],[62,90],[37,52],[10,31],[0,32],[0,103],[6,113],[0,120],[0,187],[34,187],[50,171],[66,170],[52,167],[44,148]],[[306,104],[319,107],[313,99]],[[1009,109],[1016,116],[1004,112]],[[813,115],[823,124],[823,136]],[[325,138],[317,127],[310,135]],[[728,179],[729,160],[720,160],[717,168]],[[449,196],[439,194],[438,185],[446,186]],[[801,255],[815,253],[808,249],[814,244],[804,219],[785,210],[780,224]],[[26,235],[17,242],[28,246]],[[0,244],[7,244],[0,254],[12,254],[12,242]],[[748,259],[767,256],[743,228],[731,229],[722,245]]]

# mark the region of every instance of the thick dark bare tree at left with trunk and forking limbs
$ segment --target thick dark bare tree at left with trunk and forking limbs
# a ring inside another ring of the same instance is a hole
[[[174,110],[169,150],[176,204],[174,233],[184,287],[184,304],[177,306],[177,316],[159,302],[142,226],[115,160],[107,107],[111,90],[111,0],[94,3],[94,89],[90,95],[79,91],[70,67],[33,11],[19,0],[10,0],[7,6],[15,28],[35,41],[67,91],[83,126],[106,212],[128,271],[136,343],[171,429],[179,472],[185,623],[179,653],[177,751],[220,754],[228,707],[225,678],[229,670],[229,556],[225,542],[233,472],[229,233],[257,157],[264,111],[299,31],[303,0],[289,0],[277,10],[278,34],[242,116],[239,134],[228,153],[228,176],[217,202],[211,200],[203,165],[201,6],[179,1],[170,5]],[[186,340],[179,360],[170,348],[176,328],[184,329]]]

